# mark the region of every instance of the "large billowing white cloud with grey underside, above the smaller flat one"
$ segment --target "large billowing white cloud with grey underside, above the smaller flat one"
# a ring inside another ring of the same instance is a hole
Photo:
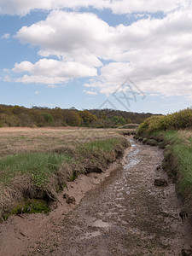
[[[40,45],[39,55],[58,55],[63,60],[80,61],[100,67],[99,57],[108,52],[109,33],[113,27],[93,14],[53,11],[47,20],[23,26],[16,38],[22,43]]]

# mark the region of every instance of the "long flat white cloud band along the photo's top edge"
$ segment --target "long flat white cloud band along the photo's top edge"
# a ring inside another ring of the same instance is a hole
[[[0,0],[0,14],[26,15],[35,9],[111,9],[116,14],[132,12],[168,12],[185,3],[185,0]]]

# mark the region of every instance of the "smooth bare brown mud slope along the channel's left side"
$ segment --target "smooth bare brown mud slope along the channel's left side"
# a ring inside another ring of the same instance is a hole
[[[126,152],[129,148],[126,149]],[[21,214],[10,216],[9,219],[0,224],[0,255],[1,256],[20,256],[29,255],[26,251],[36,247],[38,241],[44,241],[49,236],[55,236],[55,226],[61,218],[68,212],[78,207],[79,202],[85,193],[93,189],[97,184],[110,175],[111,172],[118,172],[122,168],[120,160],[108,167],[106,172],[89,173],[88,175],[79,175],[73,181],[67,183],[67,188],[58,196],[58,201],[53,202],[50,206],[52,211],[48,215],[38,214]],[[75,198],[75,202],[68,204],[63,198],[67,194]],[[45,255],[43,253],[43,255]]]

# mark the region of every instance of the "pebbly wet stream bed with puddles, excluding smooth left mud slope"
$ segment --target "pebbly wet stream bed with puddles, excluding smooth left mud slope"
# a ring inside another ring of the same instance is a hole
[[[156,170],[162,160],[162,150],[131,139],[122,168],[91,189],[34,255],[182,255],[192,229],[179,218],[175,185]],[[168,186],[154,186],[157,177]]]

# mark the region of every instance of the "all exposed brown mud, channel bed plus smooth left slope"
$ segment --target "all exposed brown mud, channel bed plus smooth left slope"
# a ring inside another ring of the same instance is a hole
[[[191,219],[181,221],[175,186],[156,170],[163,151],[131,143],[123,167],[68,184],[62,195],[75,204],[61,195],[47,216],[24,214],[1,224],[0,255],[182,255],[192,245]],[[168,185],[155,186],[156,178]]]

